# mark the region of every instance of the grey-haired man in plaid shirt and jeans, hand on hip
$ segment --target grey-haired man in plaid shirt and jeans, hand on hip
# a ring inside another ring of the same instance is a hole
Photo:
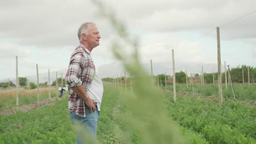
[[[79,27],[80,45],[71,55],[66,74],[69,92],[68,109],[72,123],[78,125],[78,128],[90,131],[95,141],[103,85],[92,61],[91,51],[100,45],[100,38],[95,23],[85,22]],[[83,138],[86,136],[88,134],[78,130],[77,143],[83,143]]]

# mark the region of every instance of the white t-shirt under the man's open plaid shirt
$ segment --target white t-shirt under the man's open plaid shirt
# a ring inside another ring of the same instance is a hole
[[[101,101],[103,95],[103,83],[98,76],[98,70],[95,68],[94,79],[91,81],[91,86],[87,91],[88,96],[97,102],[98,111],[101,110]]]

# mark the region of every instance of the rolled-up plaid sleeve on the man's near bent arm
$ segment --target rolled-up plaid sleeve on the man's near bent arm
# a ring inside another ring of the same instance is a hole
[[[82,81],[79,79],[82,69],[84,67],[84,55],[82,52],[75,53],[69,62],[66,82],[68,87],[78,87],[82,85]]]

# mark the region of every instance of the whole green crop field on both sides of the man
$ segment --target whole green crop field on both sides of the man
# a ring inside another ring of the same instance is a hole
[[[164,116],[158,116],[158,113],[154,111],[157,104],[149,107],[146,105],[147,112],[144,111],[143,104],[137,105],[134,102],[131,106],[138,109],[132,111],[132,107],[123,105],[124,103],[120,100],[120,95],[127,97],[132,93],[120,92],[120,88],[115,87],[113,83],[106,82],[104,83],[97,141],[98,143],[147,143],[147,139],[158,140],[160,137],[170,140],[170,143],[173,143],[171,141],[175,141],[174,143],[256,143],[255,105],[251,103],[247,105],[239,101],[255,100],[255,86],[248,88],[246,85],[235,85],[237,101],[231,99],[232,95],[228,90],[226,92],[224,90],[225,100],[222,107],[218,105],[218,89],[216,88],[218,88],[217,85],[195,86],[196,94],[192,97],[191,88],[177,85],[176,103],[173,102],[171,93],[159,92],[157,96],[164,100],[162,111],[167,119],[165,122],[161,119]],[[167,87],[167,89],[171,90],[172,87]],[[241,92],[242,89],[244,90]],[[130,88],[127,90],[130,91]],[[147,102],[145,100],[145,103]],[[127,111],[131,115],[120,114],[127,113]],[[148,116],[154,121],[150,123],[150,127],[142,127],[143,122],[151,122],[150,119],[144,119]],[[137,123],[131,124],[125,121],[125,119],[132,121],[133,118],[137,118]],[[158,131],[158,122],[164,122],[159,124],[162,127],[160,128],[162,133]],[[173,125],[170,126],[169,123]],[[172,133],[170,136],[165,136],[165,131],[168,130]],[[173,137],[173,133],[177,137]],[[0,143],[75,143],[75,129],[67,109],[67,95],[53,100],[52,105],[36,110],[18,112],[8,116],[1,115],[0,135]]]

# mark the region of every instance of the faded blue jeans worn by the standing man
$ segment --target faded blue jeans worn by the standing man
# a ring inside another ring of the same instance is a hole
[[[70,113],[72,123],[78,127],[77,129],[77,144],[85,143],[86,137],[90,139],[88,143],[96,143],[96,130],[98,118],[100,113],[98,112],[98,107],[96,107],[95,112],[90,113],[89,107],[85,107],[86,117],[79,117],[75,114],[74,111]],[[86,131],[89,131],[90,134],[87,134]],[[90,135],[90,136],[89,136]],[[93,141],[93,142],[92,142]]]

